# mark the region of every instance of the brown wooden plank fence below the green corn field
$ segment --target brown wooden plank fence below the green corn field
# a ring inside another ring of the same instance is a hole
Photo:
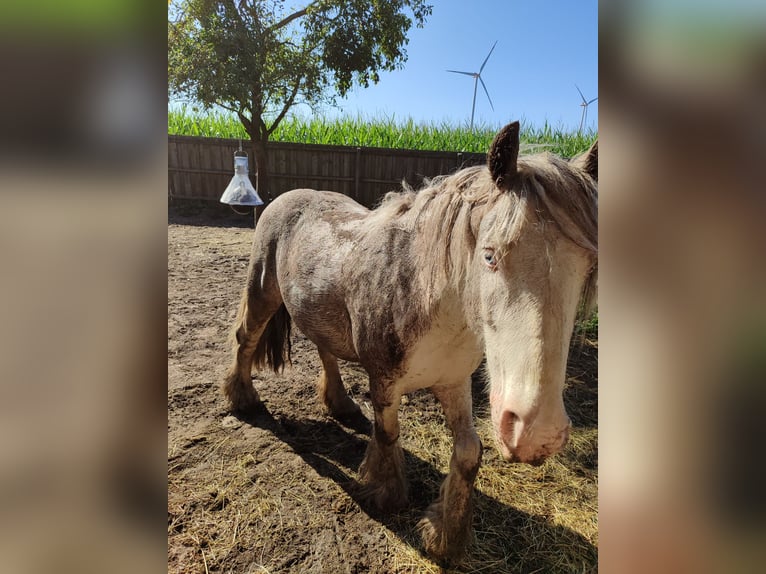
[[[253,155],[248,154],[255,183]],[[168,194],[171,198],[218,201],[234,175],[239,140],[168,136]],[[424,177],[449,174],[477,163],[478,153],[435,152],[271,142],[268,144],[271,196],[308,187],[344,193],[373,207],[387,192],[413,187]],[[261,194],[259,192],[260,195]]]

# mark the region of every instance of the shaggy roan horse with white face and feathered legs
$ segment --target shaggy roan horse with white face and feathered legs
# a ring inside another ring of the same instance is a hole
[[[483,450],[471,405],[482,360],[505,460],[540,464],[567,442],[567,356],[578,312],[596,294],[597,181],[598,142],[571,160],[519,157],[513,122],[486,165],[405,186],[373,210],[329,191],[280,195],[255,229],[223,385],[232,410],[259,407],[251,369],[283,369],[292,323],[317,346],[318,395],[331,416],[361,414],[337,360],[361,364],[374,420],[360,496],[395,511],[407,502],[400,399],[430,389],[453,451],[419,530],[435,560],[459,562]]]

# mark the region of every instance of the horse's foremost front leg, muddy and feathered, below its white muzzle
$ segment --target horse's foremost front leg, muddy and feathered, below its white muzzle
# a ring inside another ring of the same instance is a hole
[[[470,380],[431,390],[452,430],[453,450],[439,498],[428,507],[419,526],[426,551],[440,561],[456,563],[463,557],[471,533],[473,483],[482,446],[473,426]]]

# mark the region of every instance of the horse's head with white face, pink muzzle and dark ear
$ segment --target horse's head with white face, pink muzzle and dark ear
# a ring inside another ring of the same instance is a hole
[[[488,156],[503,193],[479,224],[473,274],[498,446],[506,460],[536,464],[569,435],[569,343],[581,295],[595,288],[598,150],[570,162],[517,162],[518,151],[515,122]]]

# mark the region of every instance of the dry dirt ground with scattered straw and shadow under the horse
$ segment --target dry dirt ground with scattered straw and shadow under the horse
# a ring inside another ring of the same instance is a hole
[[[168,572],[438,572],[415,528],[438,496],[451,444],[428,393],[401,409],[411,507],[394,516],[355,500],[369,425],[345,426],[322,413],[314,390],[319,358],[299,332],[291,368],[254,374],[266,409],[251,419],[227,412],[220,384],[252,217],[226,210],[169,210]],[[458,571],[596,570],[596,357],[591,343],[570,359],[573,438],[558,461],[506,465],[480,422],[476,534]],[[365,373],[350,364],[341,372],[370,418]],[[482,413],[483,385],[474,387]]]

